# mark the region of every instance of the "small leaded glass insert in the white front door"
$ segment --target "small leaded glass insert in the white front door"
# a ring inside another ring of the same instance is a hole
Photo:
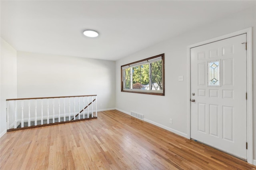
[[[210,86],[220,86],[220,61],[214,61],[208,63],[209,67],[209,79],[208,85]]]

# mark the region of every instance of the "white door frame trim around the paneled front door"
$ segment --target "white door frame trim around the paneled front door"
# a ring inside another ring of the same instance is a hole
[[[216,38],[212,38],[210,40],[206,40],[204,42],[199,42],[199,43],[195,43],[192,45],[188,45],[187,47],[187,91],[188,91],[188,95],[187,95],[187,114],[188,114],[188,132],[187,132],[187,137],[190,139],[190,130],[191,130],[191,108],[190,108],[190,93],[191,93],[191,85],[190,85],[190,60],[191,60],[191,56],[190,56],[190,49],[193,47],[197,47],[200,45],[204,45],[207,43],[212,43],[212,42],[216,42],[219,40],[223,40],[226,38],[230,38],[230,37],[234,37],[234,36],[238,36],[240,34],[245,34],[246,33],[246,39],[247,39],[247,51],[246,51],[246,74],[247,74],[247,143],[248,143],[248,149],[247,149],[247,162],[250,164],[253,164],[253,119],[252,119],[252,28],[247,28],[244,30],[240,30],[237,32],[233,32],[230,34],[226,34],[224,36],[220,36],[220,37],[216,37]],[[245,95],[245,94],[244,94]],[[244,96],[245,97],[245,96]]]

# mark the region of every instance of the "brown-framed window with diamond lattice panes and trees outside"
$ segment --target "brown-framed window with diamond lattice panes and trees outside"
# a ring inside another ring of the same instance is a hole
[[[164,54],[121,66],[121,91],[164,96]]]

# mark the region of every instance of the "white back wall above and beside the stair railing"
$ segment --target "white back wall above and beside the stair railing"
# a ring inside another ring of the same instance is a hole
[[[18,98],[98,95],[98,110],[115,108],[115,61],[18,51],[17,72]]]

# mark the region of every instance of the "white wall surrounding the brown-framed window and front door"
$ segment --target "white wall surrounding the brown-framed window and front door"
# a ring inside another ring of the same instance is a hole
[[[116,108],[125,113],[134,111],[146,121],[187,136],[187,46],[253,27],[253,88],[254,88],[254,160],[256,159],[256,8],[238,12],[228,18],[211,21],[170,40],[153,45],[116,61]],[[120,66],[165,53],[165,96],[121,92]],[[183,75],[184,81],[178,81]],[[173,119],[173,124],[169,119]]]

